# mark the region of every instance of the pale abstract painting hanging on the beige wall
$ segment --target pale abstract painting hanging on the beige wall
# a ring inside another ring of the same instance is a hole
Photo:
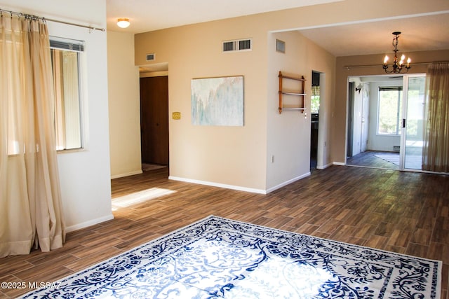
[[[243,76],[191,82],[192,125],[243,126]]]

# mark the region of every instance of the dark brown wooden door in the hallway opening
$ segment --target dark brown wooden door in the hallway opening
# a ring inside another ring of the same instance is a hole
[[[140,78],[142,162],[168,165],[168,76]]]

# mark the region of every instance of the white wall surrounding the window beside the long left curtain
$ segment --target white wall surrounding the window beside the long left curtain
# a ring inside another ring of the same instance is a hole
[[[105,0],[5,0],[1,8],[45,18],[106,27]],[[58,165],[67,231],[113,218],[109,168],[106,32],[48,22],[51,36],[86,41],[83,55],[83,151],[60,153]]]

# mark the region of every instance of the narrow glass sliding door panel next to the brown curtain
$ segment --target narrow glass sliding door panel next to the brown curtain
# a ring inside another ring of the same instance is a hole
[[[424,144],[425,76],[409,77],[407,90],[406,151],[404,168],[421,169]]]

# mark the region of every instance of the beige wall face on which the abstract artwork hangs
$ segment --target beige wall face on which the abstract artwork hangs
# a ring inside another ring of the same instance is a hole
[[[267,33],[256,22],[223,20],[135,36],[136,64],[147,53],[168,62],[170,177],[203,183],[265,190],[267,127]],[[222,53],[222,41],[253,39],[253,50]],[[192,78],[244,76],[243,127],[192,125]]]

